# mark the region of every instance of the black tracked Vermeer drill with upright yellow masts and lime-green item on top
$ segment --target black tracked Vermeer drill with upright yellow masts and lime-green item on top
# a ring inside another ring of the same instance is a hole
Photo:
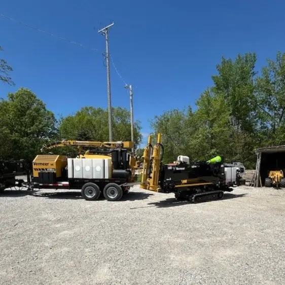
[[[140,188],[172,192],[177,199],[198,202],[221,199],[224,191],[232,191],[230,186],[241,183],[236,167],[225,164],[220,155],[208,161],[192,163],[189,157],[179,156],[173,163],[162,164],[163,153],[161,134],[157,135],[155,146],[149,136],[143,156]]]

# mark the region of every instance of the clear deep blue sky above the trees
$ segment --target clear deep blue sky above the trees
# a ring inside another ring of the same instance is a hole
[[[97,30],[112,21],[110,52],[134,88],[134,118],[149,133],[164,111],[195,105],[211,85],[222,55],[256,52],[257,68],[285,44],[280,1],[2,0],[0,14],[55,33],[82,48],[0,17],[1,54],[14,68],[15,87],[26,87],[55,115],[86,105],[107,107],[105,42]],[[111,65],[112,105],[129,108],[124,83]]]

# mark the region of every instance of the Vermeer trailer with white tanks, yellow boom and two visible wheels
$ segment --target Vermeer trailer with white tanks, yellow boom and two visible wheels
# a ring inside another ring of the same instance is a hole
[[[136,179],[129,153],[131,142],[72,142],[74,146],[92,145],[99,149],[96,154],[88,151],[76,158],[52,154],[36,156],[28,184],[30,190],[81,189],[86,200],[97,200],[102,193],[109,201],[118,201],[128,193]]]

